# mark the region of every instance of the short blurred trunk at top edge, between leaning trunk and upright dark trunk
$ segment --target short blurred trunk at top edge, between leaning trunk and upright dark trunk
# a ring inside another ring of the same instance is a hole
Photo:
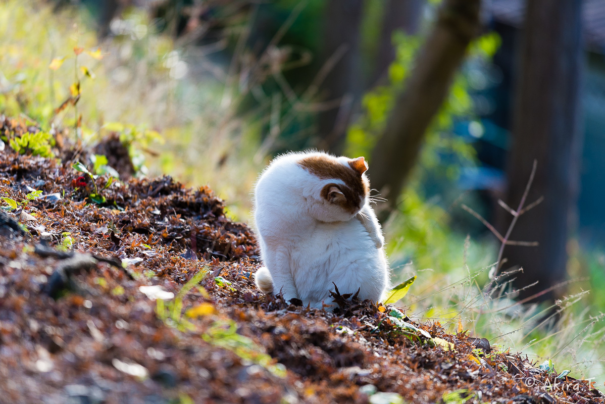
[[[401,30],[406,34],[416,34],[420,29],[423,8],[424,0],[387,0],[382,16],[381,38],[372,84],[385,76],[388,67],[395,60],[393,33]]]

